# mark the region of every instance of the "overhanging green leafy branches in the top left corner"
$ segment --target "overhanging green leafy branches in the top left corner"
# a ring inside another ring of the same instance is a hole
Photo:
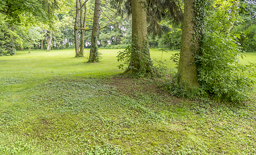
[[[37,22],[50,25],[58,9],[58,0],[0,1],[0,13],[6,16],[5,21],[16,25],[34,25]]]

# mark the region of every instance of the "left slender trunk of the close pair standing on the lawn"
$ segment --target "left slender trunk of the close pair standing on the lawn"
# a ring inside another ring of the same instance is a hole
[[[79,12],[80,12],[79,0],[76,0],[76,19],[75,19],[75,25],[74,25],[76,57],[79,57],[79,38],[78,38]]]

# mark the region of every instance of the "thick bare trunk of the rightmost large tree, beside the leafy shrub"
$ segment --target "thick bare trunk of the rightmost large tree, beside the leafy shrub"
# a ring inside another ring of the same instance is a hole
[[[184,21],[182,25],[182,43],[180,45],[178,73],[180,74],[180,84],[187,83],[190,87],[198,87],[194,52],[198,50],[199,44],[193,41],[193,34],[195,33],[193,2],[193,0],[184,1]]]

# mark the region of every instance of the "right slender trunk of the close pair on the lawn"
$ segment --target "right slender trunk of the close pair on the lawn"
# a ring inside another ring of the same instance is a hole
[[[80,6],[82,5],[81,0],[80,0]],[[86,14],[87,14],[87,8],[85,4],[85,13],[83,15],[83,9],[81,8],[81,16],[80,16],[80,23],[81,23],[81,28],[85,28],[86,24]],[[83,17],[84,16],[84,17]],[[85,30],[81,30],[81,45],[80,45],[80,51],[79,54],[81,57],[83,57],[83,49],[85,48]]]

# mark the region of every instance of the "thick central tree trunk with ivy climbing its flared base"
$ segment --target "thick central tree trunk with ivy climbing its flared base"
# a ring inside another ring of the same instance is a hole
[[[153,63],[150,58],[147,40],[147,12],[142,0],[131,1],[132,45],[131,62],[123,74],[152,74]]]

